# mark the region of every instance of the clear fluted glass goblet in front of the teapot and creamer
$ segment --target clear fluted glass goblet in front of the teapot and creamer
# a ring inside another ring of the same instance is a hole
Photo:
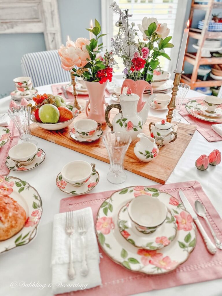
[[[131,143],[131,136],[123,132],[110,132],[103,137],[103,142],[110,158],[110,172],[107,180],[113,184],[120,184],[126,181],[123,161],[126,151]]]

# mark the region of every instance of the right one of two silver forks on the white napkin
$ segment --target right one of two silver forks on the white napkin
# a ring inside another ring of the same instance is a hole
[[[85,250],[85,240],[84,235],[86,234],[86,220],[83,214],[78,215],[78,233],[82,240],[82,265],[81,265],[81,275],[87,276],[89,270],[86,262],[86,250]]]

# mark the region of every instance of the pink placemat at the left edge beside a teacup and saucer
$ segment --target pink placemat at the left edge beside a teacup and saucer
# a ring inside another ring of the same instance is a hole
[[[8,142],[0,148],[0,175],[8,175],[9,169],[5,166],[6,158],[8,157],[9,150],[18,144],[19,140],[19,132],[16,128],[15,124],[11,120],[9,126],[6,128],[9,128],[11,136]]]

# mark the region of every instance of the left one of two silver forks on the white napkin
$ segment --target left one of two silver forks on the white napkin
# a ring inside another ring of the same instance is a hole
[[[69,279],[74,279],[75,269],[73,266],[73,246],[72,246],[72,235],[74,233],[74,220],[73,220],[73,211],[66,212],[66,223],[65,231],[69,236],[69,266],[68,266],[68,277]]]

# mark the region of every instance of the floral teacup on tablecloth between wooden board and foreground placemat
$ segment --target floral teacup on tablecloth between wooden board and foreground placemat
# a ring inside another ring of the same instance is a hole
[[[74,160],[62,168],[61,175],[67,183],[80,187],[89,181],[95,166],[94,163],[90,164],[83,160]]]

